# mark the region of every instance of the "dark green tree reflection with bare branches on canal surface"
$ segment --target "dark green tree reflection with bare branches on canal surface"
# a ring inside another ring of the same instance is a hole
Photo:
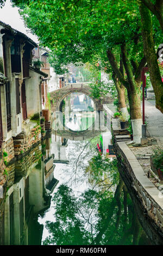
[[[78,154],[92,143],[83,143]],[[77,144],[76,144],[77,145]],[[71,150],[70,150],[71,151]],[[89,155],[90,156],[90,155]],[[76,158],[77,169],[83,169],[82,161]],[[78,177],[74,159],[72,179]],[[148,243],[137,220],[133,203],[120,178],[116,160],[92,156],[85,169],[84,179],[90,187],[76,193],[67,185],[61,185],[54,194],[55,222],[46,222],[51,235],[43,242],[55,245],[137,245]],[[71,181],[72,181],[71,179]]]

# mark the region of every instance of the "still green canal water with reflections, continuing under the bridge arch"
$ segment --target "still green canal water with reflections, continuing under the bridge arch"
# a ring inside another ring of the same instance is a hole
[[[74,132],[88,129],[94,110],[88,96],[68,96],[62,104],[65,125]],[[10,164],[0,199],[0,244],[149,244],[117,161],[101,154],[102,145],[101,132],[76,141],[52,131]]]

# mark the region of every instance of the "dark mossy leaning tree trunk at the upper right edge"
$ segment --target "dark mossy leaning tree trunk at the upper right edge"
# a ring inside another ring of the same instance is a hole
[[[148,8],[143,3],[140,3],[140,15],[142,21],[144,53],[147,59],[149,75],[155,93],[155,104],[156,108],[163,113],[163,82],[161,80],[160,69],[154,48],[152,19]]]

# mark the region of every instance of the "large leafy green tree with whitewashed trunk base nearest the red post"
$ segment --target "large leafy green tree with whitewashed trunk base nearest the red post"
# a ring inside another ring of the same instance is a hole
[[[20,1],[15,2],[18,4]],[[100,48],[106,51],[116,79],[122,88],[124,86],[127,89],[134,142],[140,143],[141,69],[146,65],[147,54],[143,56],[141,19],[137,1],[133,1],[132,5],[130,1],[122,0],[116,3],[113,0],[60,0],[55,3],[28,1],[28,5],[20,4],[20,7],[28,27],[39,36],[42,45],[55,49],[55,53],[61,48],[71,53],[72,49],[76,49],[73,63],[77,62],[77,58],[78,62],[84,62],[85,58],[91,59],[92,54],[98,54]],[[120,51],[126,74],[122,74],[120,59],[114,51]],[[70,57],[70,54],[68,56]]]

